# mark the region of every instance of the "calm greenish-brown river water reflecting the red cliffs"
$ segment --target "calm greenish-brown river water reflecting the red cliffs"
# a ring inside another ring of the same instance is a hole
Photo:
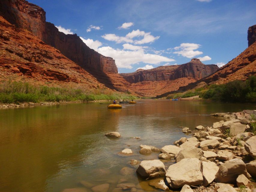
[[[0,110],[0,191],[61,192],[66,188],[109,183],[112,191],[119,179],[144,191],[154,191],[136,175],[138,161],[158,159],[158,153],[139,154],[140,144],[161,148],[181,137],[182,127],[192,132],[197,125],[212,126],[217,112],[255,109],[250,104],[209,101],[142,100],[107,109],[106,104],[61,104]],[[118,131],[120,139],[107,132]],[[140,137],[139,140],[132,137]],[[117,155],[128,148],[132,156]],[[166,169],[174,160],[163,160]],[[130,175],[119,172],[133,169]],[[89,184],[88,184],[89,182]],[[87,188],[87,191],[90,191]]]

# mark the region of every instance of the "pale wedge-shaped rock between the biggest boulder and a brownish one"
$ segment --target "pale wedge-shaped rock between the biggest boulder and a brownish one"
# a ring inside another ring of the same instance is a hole
[[[203,173],[203,185],[208,186],[214,181],[219,167],[214,162],[202,161],[201,170]]]

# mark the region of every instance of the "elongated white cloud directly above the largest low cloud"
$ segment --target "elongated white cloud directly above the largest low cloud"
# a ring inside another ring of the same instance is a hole
[[[150,35],[150,32],[146,33],[144,31],[140,31],[139,29],[133,30],[132,32],[128,33],[125,37],[120,37],[120,36],[117,36],[116,34],[105,34],[105,35],[102,35],[101,37],[108,41],[115,41],[116,43],[134,43],[134,44],[151,43],[160,38],[160,36],[154,37],[153,35]],[[136,37],[143,37],[143,38],[140,40],[133,40]]]

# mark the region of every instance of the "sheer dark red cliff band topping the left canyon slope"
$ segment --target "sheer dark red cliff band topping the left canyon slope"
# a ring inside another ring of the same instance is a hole
[[[59,49],[60,52],[91,73],[98,71],[118,73],[115,60],[105,57],[90,49],[75,35],[65,35],[49,22],[45,11],[25,0],[2,0],[0,15],[18,28],[32,32],[46,44]]]

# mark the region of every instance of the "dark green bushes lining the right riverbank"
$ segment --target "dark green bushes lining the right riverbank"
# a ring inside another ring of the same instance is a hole
[[[235,80],[226,84],[212,84],[206,87],[188,90],[184,93],[170,94],[167,98],[187,98],[199,95],[203,99],[222,102],[256,102],[256,76],[246,81]]]

